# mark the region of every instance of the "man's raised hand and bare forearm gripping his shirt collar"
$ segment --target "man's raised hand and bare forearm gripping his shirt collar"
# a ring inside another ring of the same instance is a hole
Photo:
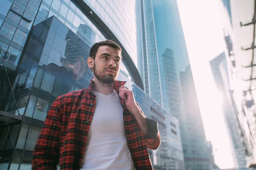
[[[119,88],[119,97],[125,99],[125,107],[139,123],[143,135],[145,137],[148,136],[148,125],[146,116],[143,113],[141,113],[140,108],[137,106],[133,92],[131,90],[126,89],[125,86],[122,85]]]

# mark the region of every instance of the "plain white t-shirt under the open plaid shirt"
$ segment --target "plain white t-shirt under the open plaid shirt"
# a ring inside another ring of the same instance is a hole
[[[96,106],[80,170],[135,170],[118,94],[93,94]]]

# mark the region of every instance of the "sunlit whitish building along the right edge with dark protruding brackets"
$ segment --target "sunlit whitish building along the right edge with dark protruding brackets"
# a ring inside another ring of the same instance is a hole
[[[221,0],[230,88],[237,108],[246,167],[256,167],[255,0]],[[239,163],[238,163],[239,164]]]

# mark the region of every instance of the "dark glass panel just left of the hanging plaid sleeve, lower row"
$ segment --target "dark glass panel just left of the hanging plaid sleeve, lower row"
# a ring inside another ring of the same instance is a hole
[[[35,143],[38,139],[39,133],[41,131],[40,127],[31,126],[29,129],[28,138],[26,141],[25,150],[33,150],[35,147]],[[24,169],[27,170],[27,169]]]

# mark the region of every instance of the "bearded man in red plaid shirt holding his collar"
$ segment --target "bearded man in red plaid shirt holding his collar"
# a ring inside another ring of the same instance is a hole
[[[90,86],[59,96],[47,114],[32,169],[150,170],[147,147],[157,149],[157,122],[148,119],[125,82],[116,81],[121,48],[95,43],[87,59]]]

